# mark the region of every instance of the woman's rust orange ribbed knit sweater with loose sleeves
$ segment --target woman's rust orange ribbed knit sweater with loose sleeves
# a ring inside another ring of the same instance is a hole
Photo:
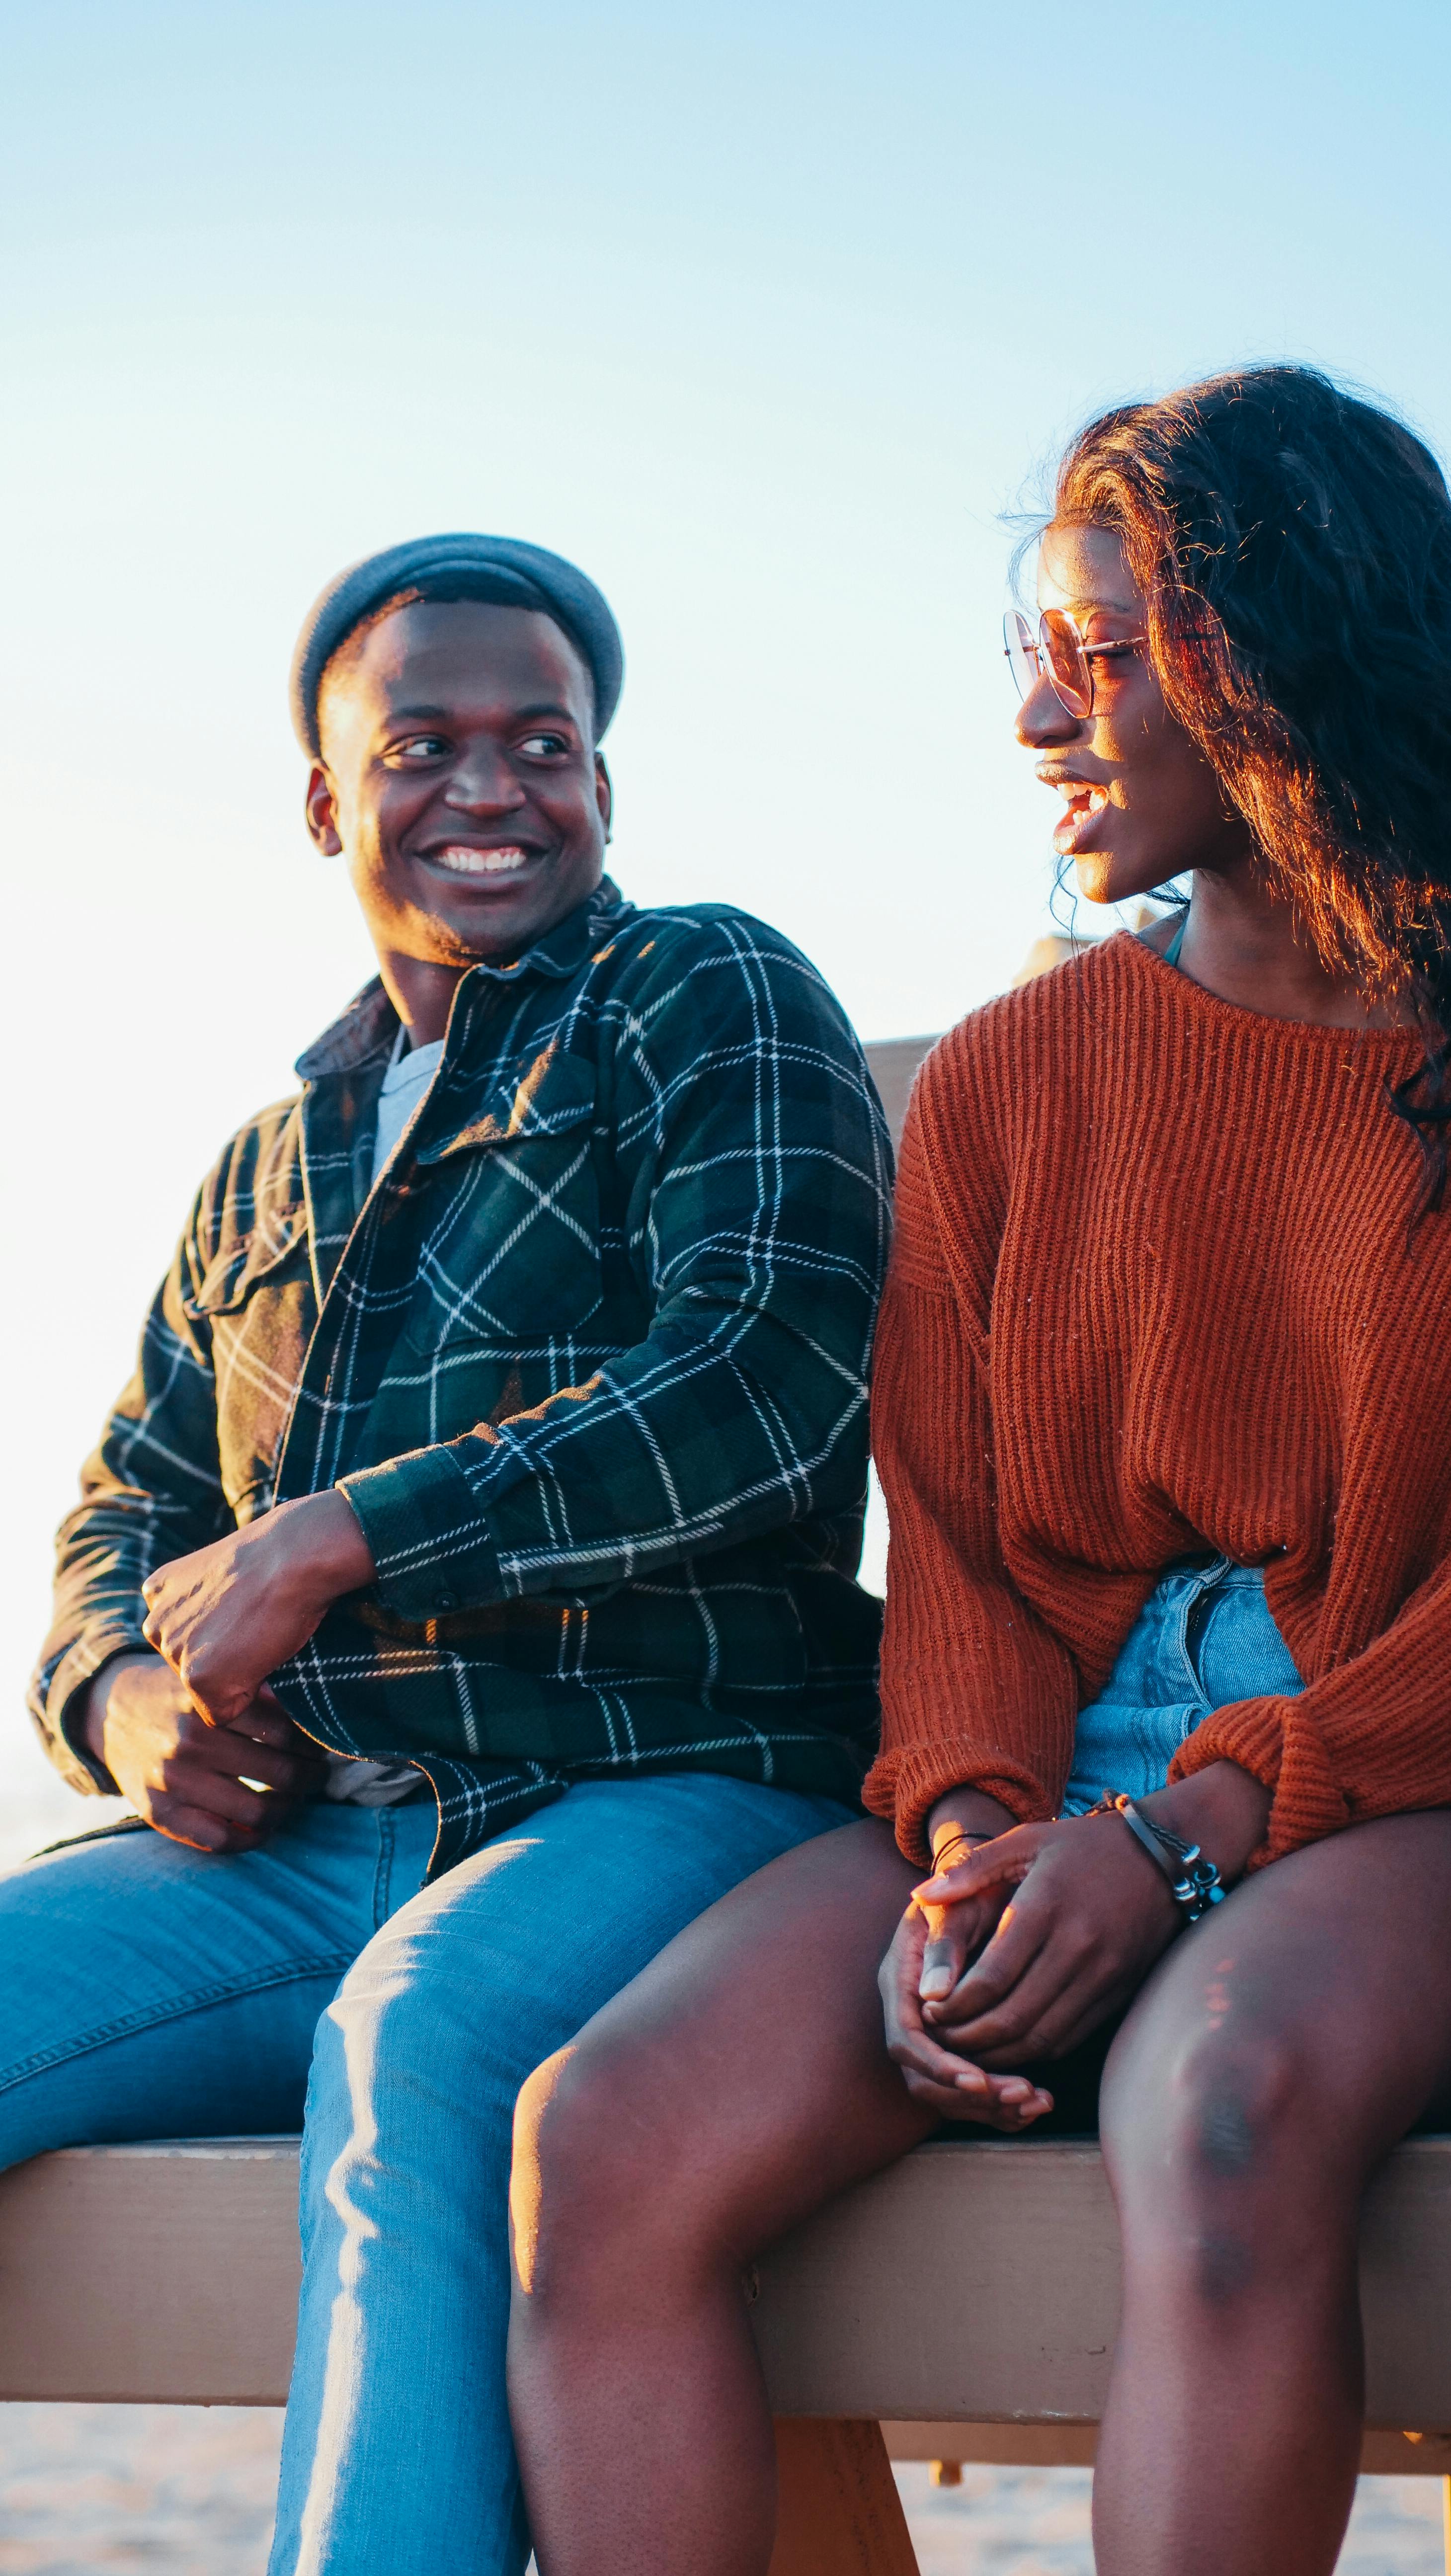
[[[1307,1690],[1175,1759],[1273,1790],[1276,1860],[1451,1803],[1451,1211],[1397,1030],[1219,1002],[1113,938],[928,1056],[874,1443],[892,1512],[881,1757],[912,1860],[959,1783],[1054,1816],[1075,1716],[1157,1577],[1265,1569]]]

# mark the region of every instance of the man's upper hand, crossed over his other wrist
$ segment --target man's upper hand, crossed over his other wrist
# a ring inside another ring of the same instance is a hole
[[[307,1494],[157,1566],[147,1643],[165,1656],[209,1726],[235,1726],[268,1677],[343,1592],[374,1579],[374,1556],[345,1494]]]

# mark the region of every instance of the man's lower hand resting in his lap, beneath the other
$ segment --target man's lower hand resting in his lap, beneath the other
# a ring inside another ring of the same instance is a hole
[[[82,1736],[137,1814],[198,1852],[253,1852],[322,1777],[317,1747],[271,1695],[237,1726],[209,1726],[155,1654],[119,1654],[95,1674]]]

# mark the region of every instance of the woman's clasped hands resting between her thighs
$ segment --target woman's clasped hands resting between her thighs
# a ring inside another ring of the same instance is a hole
[[[1077,2048],[1178,1929],[1168,1880],[1113,1816],[946,1834],[881,1960],[887,2045],[943,2120],[1023,2130],[1052,2110],[1026,2066]]]

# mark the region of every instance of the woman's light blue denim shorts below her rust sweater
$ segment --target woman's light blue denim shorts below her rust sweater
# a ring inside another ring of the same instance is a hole
[[[1147,1798],[1196,1726],[1229,1700],[1294,1698],[1304,1680],[1278,1633],[1258,1566],[1165,1574],[1139,1610],[1103,1695],[1080,1710],[1064,1816],[1103,1790]]]

